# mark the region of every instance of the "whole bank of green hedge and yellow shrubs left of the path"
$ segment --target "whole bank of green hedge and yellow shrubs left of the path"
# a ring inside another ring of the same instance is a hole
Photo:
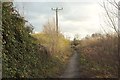
[[[55,38],[56,43],[53,35],[31,34],[33,28],[26,26],[26,20],[12,2],[4,2],[2,6],[3,77],[59,76],[71,55],[70,41],[62,35]]]

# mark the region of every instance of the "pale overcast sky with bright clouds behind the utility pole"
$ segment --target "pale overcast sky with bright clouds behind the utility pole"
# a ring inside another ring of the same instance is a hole
[[[66,2],[15,2],[15,7],[34,26],[34,32],[41,32],[43,25],[55,17],[51,8],[63,8],[59,11],[59,28],[61,32],[73,39],[75,34],[85,37],[96,32],[102,32],[100,23],[103,9],[100,0],[81,0]]]

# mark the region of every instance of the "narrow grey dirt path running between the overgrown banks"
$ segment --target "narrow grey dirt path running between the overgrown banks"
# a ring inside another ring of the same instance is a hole
[[[77,53],[75,53],[71,57],[67,69],[65,70],[64,74],[61,75],[60,78],[80,78],[78,57],[79,55]]]

